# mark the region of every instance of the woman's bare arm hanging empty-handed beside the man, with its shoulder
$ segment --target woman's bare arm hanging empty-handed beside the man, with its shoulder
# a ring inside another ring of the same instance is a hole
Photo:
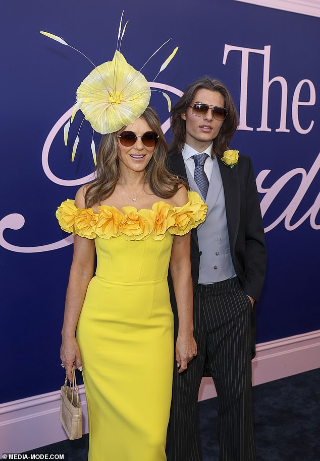
[[[178,206],[188,202],[185,187],[177,192],[175,199]],[[188,362],[197,354],[197,345],[193,338],[193,293],[190,264],[190,235],[175,235],[171,259],[170,273],[173,281],[179,316],[179,331],[176,343],[176,361],[179,373],[187,368]]]

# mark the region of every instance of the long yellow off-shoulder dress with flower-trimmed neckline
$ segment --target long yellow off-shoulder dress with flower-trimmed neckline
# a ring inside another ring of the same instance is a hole
[[[67,232],[94,239],[96,274],[77,325],[89,417],[89,461],[163,461],[173,375],[173,314],[167,275],[174,235],[205,219],[189,192],[183,207],[152,210],[67,200],[56,216]]]

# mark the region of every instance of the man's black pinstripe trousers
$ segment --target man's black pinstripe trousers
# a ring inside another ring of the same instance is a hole
[[[194,300],[197,356],[174,371],[169,461],[201,461],[197,400],[204,363],[218,394],[220,461],[253,461],[251,301],[237,278],[198,285]]]

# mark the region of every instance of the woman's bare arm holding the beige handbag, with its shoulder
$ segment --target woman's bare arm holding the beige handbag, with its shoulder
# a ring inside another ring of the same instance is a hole
[[[77,192],[75,205],[85,208],[82,188]],[[75,332],[87,287],[93,276],[94,254],[94,241],[75,235],[60,351],[61,360],[70,381],[72,381],[72,366],[82,369]]]

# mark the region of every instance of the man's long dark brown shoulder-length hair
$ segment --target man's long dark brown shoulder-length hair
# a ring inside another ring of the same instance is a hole
[[[219,135],[212,143],[211,155],[222,157],[224,151],[229,149],[229,143],[239,124],[237,109],[229,90],[222,82],[220,82],[220,80],[211,79],[210,77],[201,77],[187,86],[183,96],[181,96],[177,104],[175,104],[172,108],[171,129],[173,133],[173,140],[169,146],[170,153],[179,153],[184,147],[186,139],[186,122],[183,118],[181,118],[181,114],[186,113],[188,107],[191,106],[196,92],[202,88],[205,90],[219,92],[224,97],[225,108],[228,112],[228,115],[220,128]]]

